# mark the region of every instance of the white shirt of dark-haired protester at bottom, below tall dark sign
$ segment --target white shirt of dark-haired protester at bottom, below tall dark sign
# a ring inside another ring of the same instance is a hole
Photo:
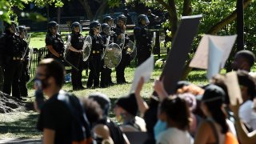
[[[192,144],[194,139],[187,130],[170,127],[159,134],[157,144]]]

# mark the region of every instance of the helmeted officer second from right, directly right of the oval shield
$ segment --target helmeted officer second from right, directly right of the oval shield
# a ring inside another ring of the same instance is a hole
[[[117,42],[120,41],[122,34],[125,34],[126,31],[126,16],[124,14],[120,14],[118,16],[118,23],[117,26],[113,29],[115,32],[115,35],[117,36]],[[117,77],[117,82],[118,83],[126,83],[126,78],[125,78],[125,69],[126,66],[130,65],[130,54],[127,54],[127,49],[126,49],[126,43],[129,42],[129,38],[125,36],[125,43],[122,44],[124,46],[120,46],[122,49],[122,60],[119,63],[119,65],[116,67],[116,77]]]

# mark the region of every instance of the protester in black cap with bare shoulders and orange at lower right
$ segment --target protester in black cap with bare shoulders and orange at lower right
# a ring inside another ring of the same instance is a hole
[[[224,143],[231,141],[238,143],[233,134],[229,132],[226,123],[226,113],[223,110],[225,92],[219,86],[210,84],[206,86],[201,100],[201,109],[206,115],[206,120],[198,127],[194,143]]]

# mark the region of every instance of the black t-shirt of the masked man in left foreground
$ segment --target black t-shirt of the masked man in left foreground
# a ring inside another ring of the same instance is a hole
[[[65,102],[58,100],[58,94],[43,104],[38,118],[38,130],[50,129],[55,131],[54,143],[65,144],[72,142],[72,114]]]

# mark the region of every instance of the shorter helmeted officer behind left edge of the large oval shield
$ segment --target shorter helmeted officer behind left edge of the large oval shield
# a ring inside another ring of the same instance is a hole
[[[110,42],[107,42],[107,39],[110,37],[110,26],[107,23],[102,23],[102,41],[105,46],[109,45]],[[102,58],[102,73],[101,73],[101,87],[106,87],[114,84],[111,80],[112,70],[106,67],[104,63],[104,58]]]

